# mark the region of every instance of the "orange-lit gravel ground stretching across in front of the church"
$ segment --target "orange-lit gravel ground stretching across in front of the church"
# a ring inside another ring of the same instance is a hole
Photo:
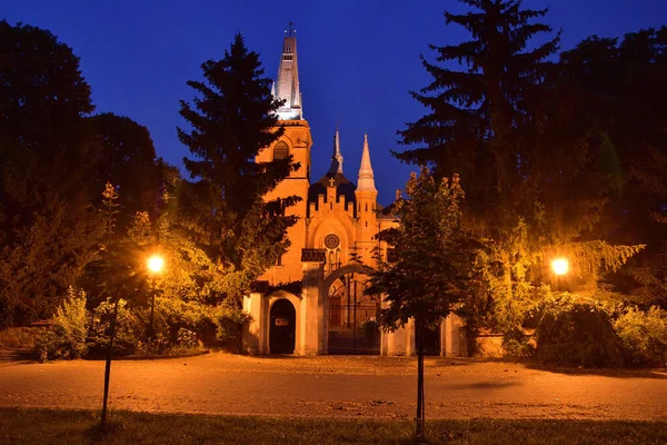
[[[103,362],[0,363],[0,406],[96,409]],[[110,406],[161,413],[412,417],[416,359],[215,353],[115,362]],[[429,418],[667,421],[665,370],[545,370],[427,358]]]

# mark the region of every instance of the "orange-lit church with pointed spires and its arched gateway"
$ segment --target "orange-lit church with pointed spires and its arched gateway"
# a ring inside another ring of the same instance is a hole
[[[344,170],[344,155],[336,129],[331,164],[321,178],[312,180],[310,127],[303,116],[299,88],[297,38],[288,31],[282,43],[275,97],[285,100],[278,113],[285,128],[280,140],[263,149],[258,162],[293,156],[300,167],[267,196],[297,195],[301,201],[287,209],[298,216],[288,230],[291,245],[279,264],[260,278],[256,291],[246,296],[243,309],[252,317],[243,332],[248,354],[382,354],[412,355],[414,326],[382,333],[379,326],[381,298],[365,295],[368,271],[381,257],[391,261],[392,250],[377,234],[399,221],[385,215],[377,201],[367,135],[361,159]],[[356,168],[358,166],[358,169]],[[352,176],[354,178],[354,176]],[[429,335],[435,355],[461,354],[460,319],[450,316]]]

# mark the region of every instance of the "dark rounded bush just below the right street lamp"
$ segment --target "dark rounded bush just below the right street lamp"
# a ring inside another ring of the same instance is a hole
[[[624,365],[621,340],[605,307],[593,299],[563,294],[538,313],[537,353],[540,362],[584,366]]]

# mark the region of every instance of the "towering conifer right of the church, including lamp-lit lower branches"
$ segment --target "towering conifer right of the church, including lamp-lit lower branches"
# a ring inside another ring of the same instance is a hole
[[[486,285],[469,315],[490,307],[491,327],[520,335],[531,286],[550,281],[551,256],[570,254],[573,269],[587,275],[577,285],[595,290],[599,268],[616,268],[641,246],[609,246],[593,231],[614,181],[604,168],[609,147],[595,121],[580,119],[584,98],[548,60],[559,34],[549,39],[551,28],[536,22],[547,10],[522,9],[520,0],[461,2],[472,11],[445,12],[446,22],[472,40],[431,44],[436,61],[421,58],[434,80],[411,95],[428,112],[399,131],[407,148],[396,156],[432,165],[439,177],[460,174],[467,226],[490,253],[480,256]]]

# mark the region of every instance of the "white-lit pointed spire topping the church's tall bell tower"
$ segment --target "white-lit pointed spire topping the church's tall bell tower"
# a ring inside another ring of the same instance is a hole
[[[297,63],[297,31],[289,22],[289,30],[285,31],[282,42],[282,57],[278,68],[278,79],[273,86],[273,97],[285,100],[277,111],[280,120],[303,119],[301,107],[301,91],[299,89],[299,67]]]

